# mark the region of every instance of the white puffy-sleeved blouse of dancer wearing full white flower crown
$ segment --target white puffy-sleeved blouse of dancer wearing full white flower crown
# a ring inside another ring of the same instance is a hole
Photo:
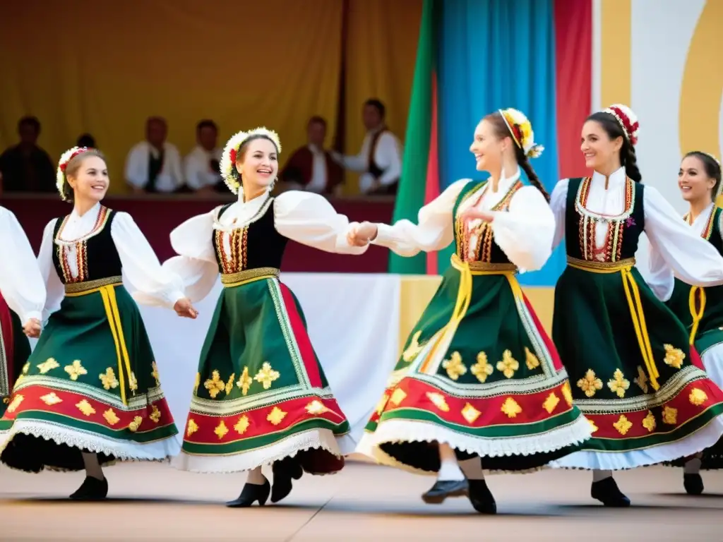
[[[268,202],[266,195],[249,202],[239,192],[234,202],[217,219],[221,207],[189,218],[171,232],[171,246],[179,256],[163,263],[166,270],[181,277],[191,301],[200,301],[218,280],[218,263],[213,248],[213,232],[222,231],[226,254],[231,254],[231,232],[254,222]],[[337,254],[364,254],[367,246],[351,246],[346,233],[352,224],[340,215],[327,199],[312,192],[291,190],[273,198],[274,228],[282,236],[298,243]],[[153,304],[145,298],[144,302]]]

